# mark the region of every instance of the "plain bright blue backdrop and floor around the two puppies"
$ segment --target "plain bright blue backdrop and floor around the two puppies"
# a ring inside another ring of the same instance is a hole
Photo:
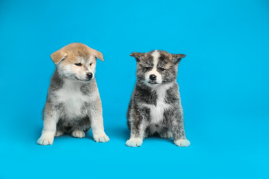
[[[103,53],[109,143],[92,133],[37,145],[54,63],[72,42]],[[131,52],[187,57],[178,82],[190,147],[126,147]],[[269,178],[269,2],[0,1],[0,178]]]

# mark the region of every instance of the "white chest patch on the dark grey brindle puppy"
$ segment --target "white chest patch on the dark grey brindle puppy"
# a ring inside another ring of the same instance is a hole
[[[165,102],[166,91],[172,87],[172,84],[159,85],[152,88],[152,91],[157,93],[157,105],[143,104],[143,106],[150,108],[151,123],[159,123],[163,119],[163,112],[171,106]]]

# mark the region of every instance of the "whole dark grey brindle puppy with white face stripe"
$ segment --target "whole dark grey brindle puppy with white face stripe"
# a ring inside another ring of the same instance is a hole
[[[131,134],[126,145],[138,147],[143,138],[157,133],[161,138],[173,136],[175,145],[188,147],[177,84],[179,61],[186,55],[153,50],[130,56],[137,60],[137,83],[128,107]]]

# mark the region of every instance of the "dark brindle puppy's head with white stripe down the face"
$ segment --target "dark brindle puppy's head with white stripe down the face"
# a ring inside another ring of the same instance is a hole
[[[170,54],[153,50],[148,53],[133,52],[137,60],[137,78],[150,87],[170,83],[177,79],[177,67],[185,54]]]

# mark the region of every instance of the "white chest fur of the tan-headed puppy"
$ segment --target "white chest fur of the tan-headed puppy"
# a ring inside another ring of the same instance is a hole
[[[57,102],[63,104],[64,114],[67,120],[85,116],[86,114],[83,114],[81,108],[86,102],[89,103],[94,100],[92,95],[87,96],[82,94],[81,85],[83,85],[83,83],[79,81],[65,81],[63,87],[56,93]]]

